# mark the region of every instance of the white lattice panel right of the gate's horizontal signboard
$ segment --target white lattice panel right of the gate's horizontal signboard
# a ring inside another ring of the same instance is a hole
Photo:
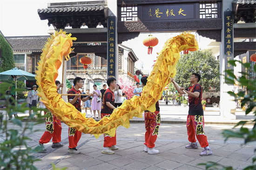
[[[218,3],[200,3],[200,18],[218,18]]]

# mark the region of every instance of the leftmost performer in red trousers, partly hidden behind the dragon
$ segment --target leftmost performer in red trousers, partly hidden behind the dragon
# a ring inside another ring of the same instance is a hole
[[[57,85],[57,92],[63,87],[63,83],[56,80],[55,84]],[[53,138],[52,148],[62,147],[61,144],[61,120],[57,119],[51,112],[47,112],[47,118],[45,118],[46,131],[42,135],[39,140],[38,146],[43,146],[43,144],[47,144]],[[42,151],[46,151],[47,149],[42,147]]]

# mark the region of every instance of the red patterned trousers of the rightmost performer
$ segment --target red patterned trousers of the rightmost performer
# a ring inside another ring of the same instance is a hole
[[[202,148],[209,146],[207,137],[203,131],[204,118],[203,116],[188,115],[187,117],[187,131],[189,142],[196,142],[195,136]]]

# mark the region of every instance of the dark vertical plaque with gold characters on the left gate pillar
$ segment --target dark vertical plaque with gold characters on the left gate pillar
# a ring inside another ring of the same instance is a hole
[[[115,77],[116,74],[116,17],[108,17],[108,78]],[[118,62],[118,61],[117,61]]]

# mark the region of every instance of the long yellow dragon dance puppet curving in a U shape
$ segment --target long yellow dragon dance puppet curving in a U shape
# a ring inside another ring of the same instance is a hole
[[[109,118],[104,117],[96,122],[93,118],[85,118],[80,111],[77,111],[70,103],[66,103],[61,98],[61,94],[56,92],[55,80],[58,77],[58,69],[61,66],[63,56],[66,60],[69,59],[68,54],[73,50],[71,49],[72,40],[76,40],[76,38],[62,30],[55,32],[48,39],[38,63],[38,71],[36,71],[36,80],[39,86],[38,95],[56,118],[69,127],[85,134],[93,134],[96,138],[102,133],[113,136],[116,128],[120,125],[129,128],[129,119],[142,118],[144,110],[155,111],[155,103],[161,97],[164,87],[170,82],[170,77],[175,76],[175,65],[180,59],[180,52],[182,50],[198,50],[195,36],[191,33],[182,33],[168,39],[158,54],[141,96],[134,96],[130,100],[125,100]]]

